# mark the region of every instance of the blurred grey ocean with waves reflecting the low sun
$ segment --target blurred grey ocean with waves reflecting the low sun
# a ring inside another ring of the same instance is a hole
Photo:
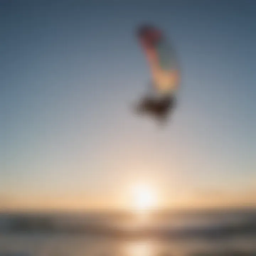
[[[256,210],[2,213],[0,256],[256,256]]]

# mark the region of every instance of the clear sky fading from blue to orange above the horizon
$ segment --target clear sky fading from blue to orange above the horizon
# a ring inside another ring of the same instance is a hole
[[[254,0],[0,0],[0,209],[256,205]],[[150,81],[134,31],[182,69],[164,129],[131,106]]]

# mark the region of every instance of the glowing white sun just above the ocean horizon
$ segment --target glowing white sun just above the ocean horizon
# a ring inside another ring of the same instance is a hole
[[[148,212],[156,207],[155,191],[145,184],[132,187],[132,204],[136,212]]]

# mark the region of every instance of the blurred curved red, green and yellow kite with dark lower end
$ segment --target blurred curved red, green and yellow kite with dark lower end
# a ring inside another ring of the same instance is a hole
[[[165,34],[154,26],[140,26],[137,38],[150,68],[151,82],[150,93],[140,99],[135,111],[166,122],[176,106],[176,92],[180,85],[175,51]]]

